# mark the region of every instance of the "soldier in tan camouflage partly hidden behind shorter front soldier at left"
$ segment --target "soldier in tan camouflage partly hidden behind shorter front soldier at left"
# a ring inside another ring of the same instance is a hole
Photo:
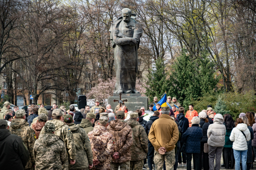
[[[68,161],[68,159],[67,159],[62,168],[67,170],[69,162],[71,164],[75,163],[76,147],[75,147],[74,138],[69,129],[69,126],[67,124],[65,124],[64,122],[62,122],[62,118],[63,118],[62,111],[60,109],[56,108],[52,111],[52,119],[53,120],[48,120],[47,122],[52,122],[54,124],[54,126],[55,126],[54,134],[57,135],[58,137],[60,137],[65,142],[66,150],[68,151],[67,152],[68,158],[70,161]],[[39,139],[41,138],[41,136],[43,134],[45,134],[44,127],[41,130]]]

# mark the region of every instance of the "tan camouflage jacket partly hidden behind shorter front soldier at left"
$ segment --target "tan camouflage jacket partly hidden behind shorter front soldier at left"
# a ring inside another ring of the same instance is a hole
[[[48,120],[48,121],[52,122],[55,126],[54,134],[60,137],[65,142],[65,146],[69,154],[69,159],[71,160],[76,159],[76,147],[75,147],[74,138],[69,129],[69,126],[64,122],[61,122],[61,120],[57,120],[57,119]],[[39,138],[41,138],[43,134],[45,134],[44,127],[41,130]]]

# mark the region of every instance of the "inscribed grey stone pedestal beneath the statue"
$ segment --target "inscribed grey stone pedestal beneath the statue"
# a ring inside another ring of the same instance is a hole
[[[114,102],[113,100],[119,100],[119,94],[118,96],[114,94],[114,96],[110,96],[108,98],[108,104],[111,105],[113,111],[116,108],[116,106],[119,104],[118,102]],[[140,107],[144,107],[145,110],[148,110],[148,99],[147,97],[142,97],[140,94],[122,94],[122,100],[127,99],[127,102],[124,102],[125,106],[127,106],[128,111],[136,111],[137,109],[140,109]]]

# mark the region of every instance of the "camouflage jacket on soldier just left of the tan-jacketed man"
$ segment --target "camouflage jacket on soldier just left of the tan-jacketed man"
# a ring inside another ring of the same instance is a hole
[[[148,138],[144,127],[137,121],[129,119],[127,124],[131,126],[133,144],[131,147],[131,161],[146,159],[148,152]]]

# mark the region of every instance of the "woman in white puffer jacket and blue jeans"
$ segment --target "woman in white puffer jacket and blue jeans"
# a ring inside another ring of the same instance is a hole
[[[244,135],[244,134],[245,135]],[[230,141],[233,142],[233,150],[235,157],[235,169],[240,170],[240,155],[242,157],[242,170],[246,170],[246,159],[247,159],[247,142],[250,141],[251,135],[247,128],[247,124],[243,122],[241,118],[236,120],[236,127],[231,131]]]

